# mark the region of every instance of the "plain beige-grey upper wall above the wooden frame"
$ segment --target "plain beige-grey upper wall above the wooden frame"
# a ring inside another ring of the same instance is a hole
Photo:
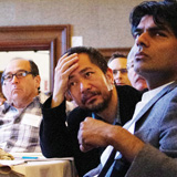
[[[133,44],[129,12],[142,0],[0,0],[0,25],[72,24],[94,48]]]

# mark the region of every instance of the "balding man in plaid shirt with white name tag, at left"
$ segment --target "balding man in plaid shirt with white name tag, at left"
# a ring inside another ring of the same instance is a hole
[[[0,106],[0,148],[9,153],[41,152],[39,126],[42,119],[41,77],[33,61],[13,59],[2,73]],[[44,101],[46,96],[43,96]]]

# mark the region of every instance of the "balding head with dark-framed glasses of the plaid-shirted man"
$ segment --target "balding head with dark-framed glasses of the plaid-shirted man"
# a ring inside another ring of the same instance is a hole
[[[2,93],[14,107],[23,108],[39,94],[40,82],[37,64],[31,60],[15,58],[2,73]]]

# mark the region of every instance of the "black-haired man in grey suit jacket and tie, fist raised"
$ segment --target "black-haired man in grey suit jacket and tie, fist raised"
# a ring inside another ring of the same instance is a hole
[[[134,69],[146,79],[149,91],[144,93],[133,119],[124,128],[91,118],[81,123],[82,150],[111,145],[102,155],[103,165],[108,149],[117,150],[116,160],[110,163],[108,158],[98,177],[177,176],[176,21],[175,0],[143,2],[131,14],[136,48]],[[107,164],[111,166],[106,169]]]

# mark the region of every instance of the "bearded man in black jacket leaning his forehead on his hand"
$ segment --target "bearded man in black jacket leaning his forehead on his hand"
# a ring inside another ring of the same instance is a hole
[[[65,113],[65,94],[77,105],[69,116]],[[58,62],[53,95],[42,108],[40,142],[43,155],[49,158],[73,156],[82,177],[100,164],[103,149],[80,150],[80,123],[92,116],[108,124],[124,125],[140,97],[142,94],[132,86],[114,85],[113,72],[97,50],[85,46],[69,49]]]

